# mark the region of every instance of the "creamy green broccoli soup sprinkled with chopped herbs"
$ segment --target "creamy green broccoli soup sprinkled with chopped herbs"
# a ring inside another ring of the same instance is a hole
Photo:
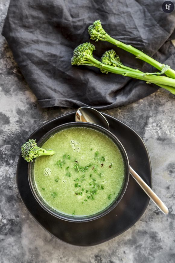
[[[123,158],[110,138],[91,128],[68,128],[42,147],[52,156],[34,163],[34,181],[53,209],[75,216],[102,211],[118,196],[124,181]]]

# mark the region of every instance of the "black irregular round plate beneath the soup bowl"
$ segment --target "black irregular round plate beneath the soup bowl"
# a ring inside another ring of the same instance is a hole
[[[123,122],[103,113],[110,131],[121,141],[128,154],[130,166],[151,187],[151,163],[141,137]],[[28,139],[37,141],[52,128],[75,121],[75,112],[51,120],[38,128]],[[149,198],[130,176],[126,192],[119,204],[107,215],[90,222],[68,222],[50,215],[34,198],[27,176],[28,163],[20,156],[17,164],[17,188],[30,215],[50,234],[63,242],[79,246],[97,245],[120,235],[143,215]],[[32,229],[31,229],[32,231]]]

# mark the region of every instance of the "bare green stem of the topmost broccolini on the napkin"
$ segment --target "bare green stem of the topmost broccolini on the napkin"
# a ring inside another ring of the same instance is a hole
[[[162,70],[164,67],[164,64],[161,64],[160,62],[156,61],[154,58],[151,58],[150,56],[148,56],[147,54],[143,53],[142,51],[138,50],[137,48],[132,47],[131,45],[126,45],[123,42],[120,42],[112,37],[110,37],[110,35],[108,35],[107,33],[105,34],[105,38],[104,40],[110,42],[111,44],[116,45],[119,48],[124,49],[125,51],[128,51],[129,53],[132,53],[133,55],[136,56],[136,58],[139,58],[145,62],[147,62],[148,64],[154,66],[155,68],[157,68],[158,70]],[[168,77],[174,78],[175,79],[175,71],[171,68],[169,68],[165,74]]]

